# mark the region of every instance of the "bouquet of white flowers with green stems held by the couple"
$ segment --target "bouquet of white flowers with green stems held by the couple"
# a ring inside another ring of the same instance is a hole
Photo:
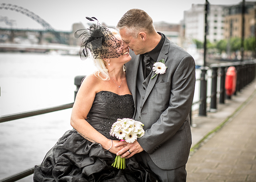
[[[117,119],[117,121],[112,125],[110,135],[120,139],[121,141],[133,143],[137,138],[140,138],[145,134],[143,126],[143,123],[133,119]],[[125,158],[121,158],[120,155],[116,156],[115,162],[112,166],[117,169],[125,169]]]

